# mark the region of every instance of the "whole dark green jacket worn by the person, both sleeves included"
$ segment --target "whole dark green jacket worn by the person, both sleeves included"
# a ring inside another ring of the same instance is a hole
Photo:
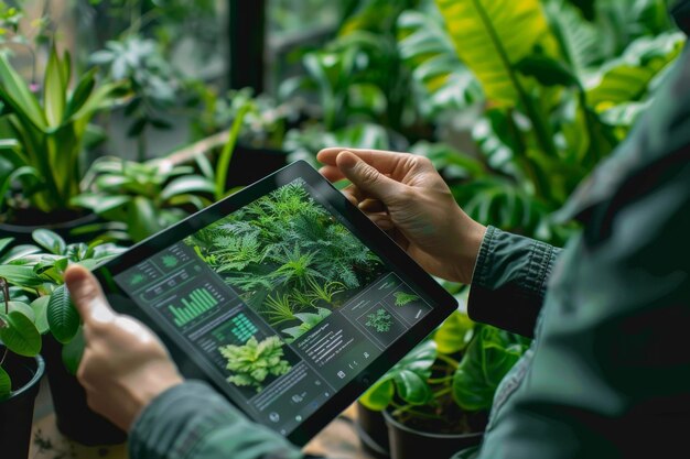
[[[690,30],[690,0],[675,17]],[[690,457],[690,50],[618,151],[563,211],[562,252],[489,228],[470,315],[526,336],[482,459]],[[187,382],[134,423],[132,459],[302,458]]]

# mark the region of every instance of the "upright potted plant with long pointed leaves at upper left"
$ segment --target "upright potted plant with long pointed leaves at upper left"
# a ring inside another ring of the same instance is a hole
[[[39,91],[0,54],[0,228],[23,242],[35,227],[66,233],[84,223],[71,199],[95,138],[89,121],[114,102],[120,85],[97,86],[91,69],[69,90],[72,70],[69,55],[53,46]]]

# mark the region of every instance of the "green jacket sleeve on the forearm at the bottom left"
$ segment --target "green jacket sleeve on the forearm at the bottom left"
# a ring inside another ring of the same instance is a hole
[[[305,459],[277,433],[250,422],[201,382],[151,402],[130,431],[131,459]]]

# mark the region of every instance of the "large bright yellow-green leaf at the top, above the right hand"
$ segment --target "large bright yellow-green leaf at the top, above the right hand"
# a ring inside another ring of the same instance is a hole
[[[516,106],[514,65],[549,35],[538,0],[435,0],[460,58],[475,74],[488,101]]]

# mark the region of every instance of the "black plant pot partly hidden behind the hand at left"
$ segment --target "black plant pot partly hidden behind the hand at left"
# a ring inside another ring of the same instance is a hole
[[[86,392],[62,361],[62,345],[51,335],[43,337],[43,356],[57,418],[57,428],[67,438],[86,446],[119,445],[127,435],[86,403]]]

